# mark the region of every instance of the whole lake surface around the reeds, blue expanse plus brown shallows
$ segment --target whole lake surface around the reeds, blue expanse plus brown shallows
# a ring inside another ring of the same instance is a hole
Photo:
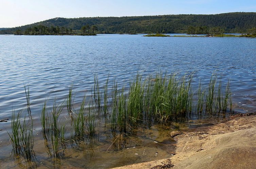
[[[197,89],[199,78],[205,85],[216,71],[223,83],[231,78],[236,111],[253,112],[256,108],[255,44],[255,38],[232,37],[0,36],[0,119],[11,119],[13,109],[27,109],[23,86],[26,84],[30,87],[36,167],[108,168],[167,158],[173,151],[170,146],[173,140],[168,135],[173,125],[164,131],[158,126],[141,128],[132,136],[122,137],[98,131],[94,140],[63,142],[58,147],[60,158],[56,158],[51,136],[43,137],[41,132],[40,113],[44,99],[48,99],[48,108],[53,109],[53,100],[66,98],[69,86],[73,84],[73,106],[78,110],[84,94],[88,99],[92,96],[89,91],[96,74],[100,90],[108,77],[123,87],[128,86],[130,78],[138,71],[149,75],[158,70],[179,72],[180,76],[193,74],[191,85]],[[65,121],[70,117],[63,113],[61,119]],[[1,167],[30,165],[11,153],[5,132],[11,131],[10,120],[0,125],[3,129],[0,131]],[[67,130],[69,127],[67,125]],[[185,128],[182,125],[176,127]],[[70,138],[71,134],[67,133],[66,137]]]

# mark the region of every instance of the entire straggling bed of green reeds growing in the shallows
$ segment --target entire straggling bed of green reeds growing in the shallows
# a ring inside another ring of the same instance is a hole
[[[71,146],[93,144],[99,132],[109,133],[115,142],[140,127],[171,125],[191,117],[220,116],[233,111],[230,81],[223,84],[216,73],[207,86],[202,86],[200,80],[196,90],[191,87],[191,75],[179,77],[174,73],[168,75],[161,72],[148,77],[138,73],[122,88],[115,80],[112,81],[112,88],[108,87],[109,79],[103,85],[100,83],[95,76],[90,99],[84,95],[77,109],[73,108],[73,85],[69,88],[67,100],[57,104],[55,99],[50,111],[47,100],[44,101],[40,120],[49,156],[61,157],[66,143]],[[65,106],[67,110],[63,110]],[[12,133],[9,136],[14,152],[22,154],[27,161],[33,161],[32,117],[22,119],[21,113],[13,111]],[[62,118],[64,116],[66,118]]]

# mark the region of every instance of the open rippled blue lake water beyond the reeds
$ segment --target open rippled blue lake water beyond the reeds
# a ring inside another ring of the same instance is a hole
[[[50,103],[55,98],[65,99],[71,84],[75,91],[74,105],[78,106],[84,93],[93,87],[95,75],[98,75],[99,83],[105,82],[109,77],[119,84],[127,84],[138,71],[149,75],[159,70],[167,73],[177,72],[180,76],[193,74],[194,86],[198,84],[199,78],[202,79],[203,84],[206,84],[215,71],[224,83],[228,78],[231,79],[232,98],[237,104],[235,111],[254,112],[256,110],[255,46],[256,38],[239,37],[143,37],[143,35],[116,34],[0,35],[0,119],[11,119],[13,109],[20,111],[26,107],[23,85],[29,85],[35,133],[40,135],[39,116],[44,99],[48,99]],[[15,166],[11,157],[11,145],[5,146],[9,143],[10,138],[6,131],[10,131],[10,126],[10,120],[7,123],[0,123],[0,129],[3,129],[0,131],[0,167],[4,168]],[[158,128],[152,130],[151,134],[153,133],[154,136],[151,138],[156,139],[161,135],[158,133]],[[39,138],[35,140],[37,145],[42,143]],[[136,145],[134,140],[132,142]],[[106,143],[106,146],[110,144]],[[141,146],[142,152],[144,147]],[[154,148],[152,152],[157,151],[159,147]],[[43,152],[38,150],[40,151]],[[120,155],[119,152],[114,153],[116,154],[112,156]],[[126,155],[122,158],[123,161],[125,157]],[[38,159],[43,161],[48,158],[38,157]],[[83,155],[80,154],[76,159],[83,160]],[[5,160],[8,163],[3,163]],[[120,159],[116,159],[118,160]],[[141,158],[134,157],[132,160],[141,162]],[[92,161],[97,162],[96,159]],[[131,161],[122,162],[122,165],[129,163]],[[47,166],[51,165],[47,164]],[[77,167],[86,167],[86,165]],[[102,165],[102,168],[106,167],[114,166]]]

